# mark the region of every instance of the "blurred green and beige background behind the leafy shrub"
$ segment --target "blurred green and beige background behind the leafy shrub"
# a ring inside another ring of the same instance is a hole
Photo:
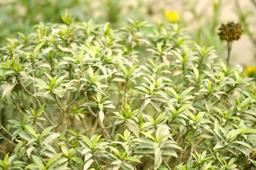
[[[124,26],[126,18],[151,22],[177,22],[187,28],[198,43],[215,45],[227,57],[227,44],[221,42],[218,27],[239,22],[243,34],[233,43],[231,65],[243,65],[248,75],[256,74],[256,0],[0,0],[0,46],[6,37],[27,35],[40,22],[62,23],[68,10],[75,21],[109,22]]]

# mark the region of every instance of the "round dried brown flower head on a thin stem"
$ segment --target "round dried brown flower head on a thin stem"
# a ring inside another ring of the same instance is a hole
[[[241,24],[229,22],[227,24],[221,24],[219,28],[220,32],[218,33],[221,37],[221,40],[234,41],[239,40],[242,34]]]

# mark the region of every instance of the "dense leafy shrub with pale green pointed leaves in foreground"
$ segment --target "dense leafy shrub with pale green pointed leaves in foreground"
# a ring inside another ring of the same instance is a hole
[[[252,78],[177,24],[63,20],[0,48],[1,169],[253,168]]]

